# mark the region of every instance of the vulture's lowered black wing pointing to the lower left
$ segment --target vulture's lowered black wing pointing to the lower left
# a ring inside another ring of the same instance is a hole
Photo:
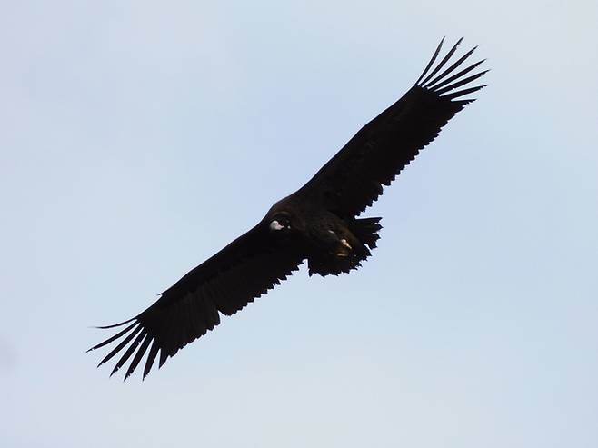
[[[99,367],[116,353],[124,351],[111,375],[135,353],[125,374],[126,379],[149,349],[145,378],[158,352],[159,367],[162,367],[168,357],[220,324],[219,313],[236,313],[280,284],[287,275],[297,270],[303,259],[297,244],[272,238],[267,223],[263,221],[185,274],[143,313],[120,324],[99,327],[114,328],[128,324],[120,333],[89,350],[119,341],[98,364]]]

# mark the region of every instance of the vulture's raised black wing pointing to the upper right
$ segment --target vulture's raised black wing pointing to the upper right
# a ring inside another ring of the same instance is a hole
[[[459,39],[431,70],[443,39],[415,85],[394,105],[365,124],[299,192],[345,218],[360,214],[372,205],[383,193],[382,185],[391,184],[404,166],[434,140],[444,124],[464,105],[474,101],[457,98],[483,88],[479,85],[452,92],[487,72],[468,75],[483,61],[458,70],[475,48],[438,74],[462,40]]]

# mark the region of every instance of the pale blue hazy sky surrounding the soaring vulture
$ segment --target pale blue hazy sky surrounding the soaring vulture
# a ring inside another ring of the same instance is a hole
[[[0,445],[598,446],[596,17],[3,2]],[[366,212],[360,271],[302,269],[144,383],[95,369],[92,325],[304,184],[444,35],[480,45],[489,86]]]

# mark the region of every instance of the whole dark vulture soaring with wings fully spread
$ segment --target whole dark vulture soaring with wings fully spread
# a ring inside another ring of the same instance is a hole
[[[474,101],[463,97],[484,87],[470,84],[487,72],[470,75],[483,60],[459,69],[476,47],[452,60],[462,40],[434,65],[441,40],[407,93],[365,124],[307,184],[274,204],[253,229],[185,274],[143,313],[99,327],[125,326],[89,349],[118,342],[98,367],[122,353],[112,375],[133,357],[126,379],[147,353],[145,378],[158,353],[162,367],[186,344],[220,324],[221,314],[236,313],[305,260],[310,275],[337,275],[359,267],[376,246],[382,228],[380,217],[360,214],[454,114]]]

